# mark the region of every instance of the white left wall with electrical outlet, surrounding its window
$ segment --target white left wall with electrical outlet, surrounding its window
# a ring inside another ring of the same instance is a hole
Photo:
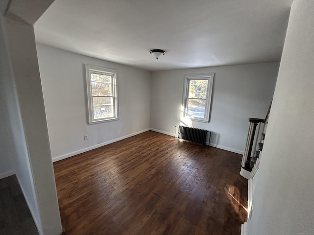
[[[150,128],[150,72],[44,45],[37,50],[54,161]],[[87,124],[85,64],[118,71],[119,120]]]

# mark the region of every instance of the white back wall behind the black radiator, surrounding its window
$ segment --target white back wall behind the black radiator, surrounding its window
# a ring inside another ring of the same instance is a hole
[[[207,129],[212,146],[243,153],[248,118],[265,118],[278,68],[279,63],[264,63],[153,72],[151,127],[172,135],[181,123]],[[181,118],[184,74],[205,72],[215,73],[210,122],[190,123]]]

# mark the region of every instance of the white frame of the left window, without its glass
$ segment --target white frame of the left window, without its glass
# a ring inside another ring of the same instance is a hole
[[[117,77],[118,77],[118,71],[116,70],[110,70],[106,68],[96,67],[92,65],[85,65],[86,69],[86,84],[87,84],[87,103],[88,103],[88,124],[95,124],[95,123],[101,123],[105,121],[112,121],[112,120],[118,120],[119,119],[119,107],[118,107],[118,83],[117,83]],[[113,117],[109,118],[94,118],[94,106],[93,106],[93,95],[92,95],[92,88],[91,88],[91,73],[98,73],[98,74],[104,74],[104,75],[110,75],[112,76],[112,96],[113,97]]]

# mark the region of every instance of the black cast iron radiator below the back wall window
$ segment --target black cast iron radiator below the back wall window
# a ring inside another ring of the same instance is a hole
[[[178,126],[178,139],[185,141],[191,141],[194,143],[206,145],[206,137],[209,132],[209,143],[211,132],[208,130],[198,129],[194,127],[187,127],[182,125],[175,125],[175,138],[176,138],[176,127]]]

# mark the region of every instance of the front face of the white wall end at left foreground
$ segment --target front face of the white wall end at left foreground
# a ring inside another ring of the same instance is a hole
[[[12,65],[12,74],[15,80],[15,91],[19,101],[17,112],[20,112],[22,117],[28,152],[26,163],[18,161],[18,163],[23,165],[17,167],[25,168],[23,174],[28,173],[31,176],[31,184],[24,185],[22,183],[24,175],[19,175],[19,172],[22,172],[22,170],[17,170],[17,175],[26,198],[28,196],[35,197],[34,205],[28,202],[28,206],[30,211],[32,211],[39,233],[41,235],[59,235],[62,232],[62,227],[33,26],[8,18],[4,19],[4,24],[8,39],[7,48]],[[21,135],[23,135],[23,132]],[[23,146],[25,143],[22,142],[21,144]],[[30,195],[28,195],[28,190],[32,190],[33,193],[29,192]]]

